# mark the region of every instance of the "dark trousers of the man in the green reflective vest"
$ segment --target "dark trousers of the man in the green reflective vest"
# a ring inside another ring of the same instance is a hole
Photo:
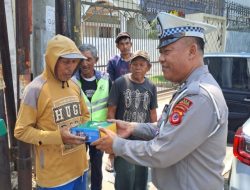
[[[89,147],[90,166],[91,166],[91,190],[102,189],[102,156],[103,152],[97,150],[95,146]]]

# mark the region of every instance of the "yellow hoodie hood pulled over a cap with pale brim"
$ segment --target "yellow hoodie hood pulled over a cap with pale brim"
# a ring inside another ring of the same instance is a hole
[[[59,57],[86,59],[71,39],[58,34],[48,41],[45,53],[46,69],[44,70],[46,78],[57,79],[55,66]]]

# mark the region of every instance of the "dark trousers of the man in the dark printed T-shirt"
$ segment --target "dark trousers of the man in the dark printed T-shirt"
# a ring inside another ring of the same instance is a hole
[[[115,189],[116,190],[146,190],[148,168],[127,162],[121,157],[115,157]]]

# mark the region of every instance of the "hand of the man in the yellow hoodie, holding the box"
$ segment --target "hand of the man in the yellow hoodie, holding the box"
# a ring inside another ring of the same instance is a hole
[[[80,145],[85,143],[85,137],[72,135],[69,129],[70,129],[69,127],[60,128],[61,137],[64,144]]]

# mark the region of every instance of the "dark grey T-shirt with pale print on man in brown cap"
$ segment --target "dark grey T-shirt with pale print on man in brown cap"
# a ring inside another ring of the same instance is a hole
[[[126,74],[115,80],[108,106],[116,106],[116,119],[150,122],[150,110],[158,106],[156,86],[146,77],[143,83],[135,83],[129,76],[130,74]]]

